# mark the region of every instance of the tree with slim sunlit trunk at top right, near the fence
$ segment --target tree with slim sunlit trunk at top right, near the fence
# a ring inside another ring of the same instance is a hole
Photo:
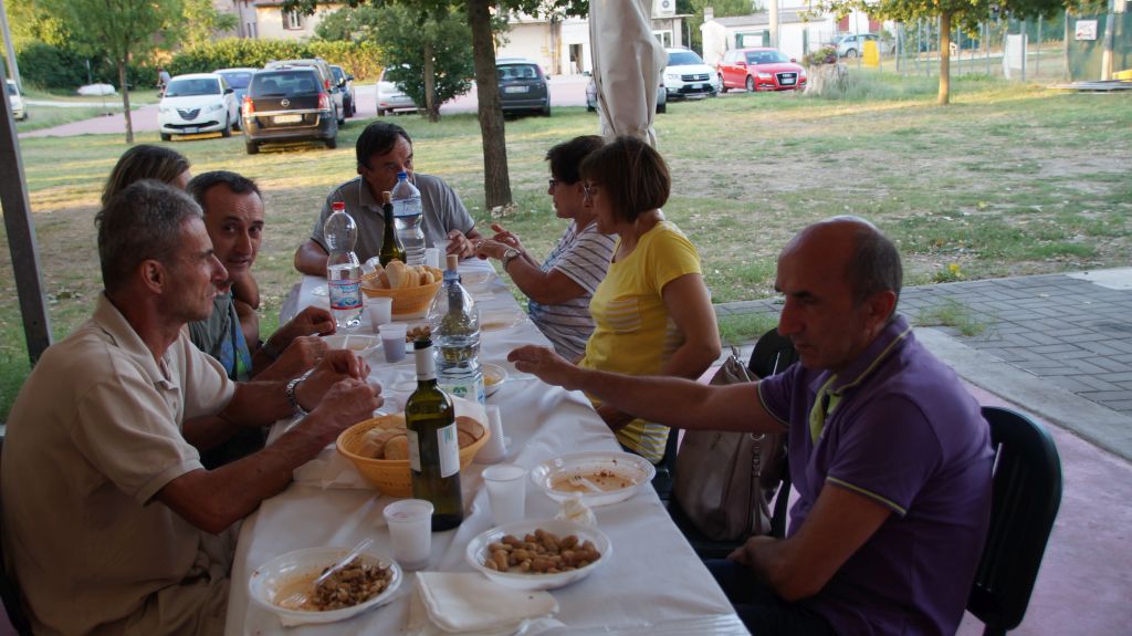
[[[1050,17],[1062,9],[1100,8],[1106,0],[822,0],[815,9],[846,16],[852,9],[878,19],[912,22],[919,18],[940,19],[940,92],[936,102],[951,102],[951,29],[958,26],[977,35],[979,23],[987,19],[992,7],[1013,18]]]

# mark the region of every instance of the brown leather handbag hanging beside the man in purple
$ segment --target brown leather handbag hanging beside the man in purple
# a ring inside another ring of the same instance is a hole
[[[737,351],[713,385],[753,383]],[[748,433],[688,430],[676,456],[676,500],[688,519],[715,541],[737,541],[771,530],[770,500],[782,481],[786,431]]]

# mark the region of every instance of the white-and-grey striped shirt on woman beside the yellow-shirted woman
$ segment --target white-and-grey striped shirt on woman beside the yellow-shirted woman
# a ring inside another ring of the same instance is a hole
[[[590,298],[606,277],[615,242],[614,237],[598,232],[594,222],[578,232],[577,224],[571,221],[542,264],[543,273],[557,269],[584,290],[582,295],[563,303],[541,304],[531,300],[528,304],[531,321],[567,360],[577,360],[585,353],[585,343],[593,333]]]

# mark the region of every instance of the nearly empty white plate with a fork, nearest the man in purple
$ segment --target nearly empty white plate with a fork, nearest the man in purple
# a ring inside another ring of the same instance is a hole
[[[636,495],[638,489],[649,487],[650,482],[652,482],[652,478],[657,474],[657,467],[640,455],[619,452],[589,452],[563,455],[561,457],[555,457],[554,459],[542,462],[531,469],[531,481],[533,481],[535,485],[538,485],[555,501],[565,501],[571,498],[574,492],[568,490],[556,490],[554,488],[555,483],[569,479],[571,475],[591,476],[593,473],[600,473],[602,471],[610,473],[614,476],[604,481],[591,479],[591,481],[600,482],[598,483],[599,487],[602,487],[606,482],[618,478],[632,481],[633,483],[624,488],[616,488],[600,493],[590,491],[582,492],[582,502],[591,508],[595,506],[617,504],[633,497]]]

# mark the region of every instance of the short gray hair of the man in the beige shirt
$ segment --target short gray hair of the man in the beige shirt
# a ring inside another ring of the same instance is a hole
[[[161,181],[143,179],[114,195],[94,217],[105,290],[126,286],[145,260],[171,263],[181,227],[192,218],[203,218],[200,206]]]

